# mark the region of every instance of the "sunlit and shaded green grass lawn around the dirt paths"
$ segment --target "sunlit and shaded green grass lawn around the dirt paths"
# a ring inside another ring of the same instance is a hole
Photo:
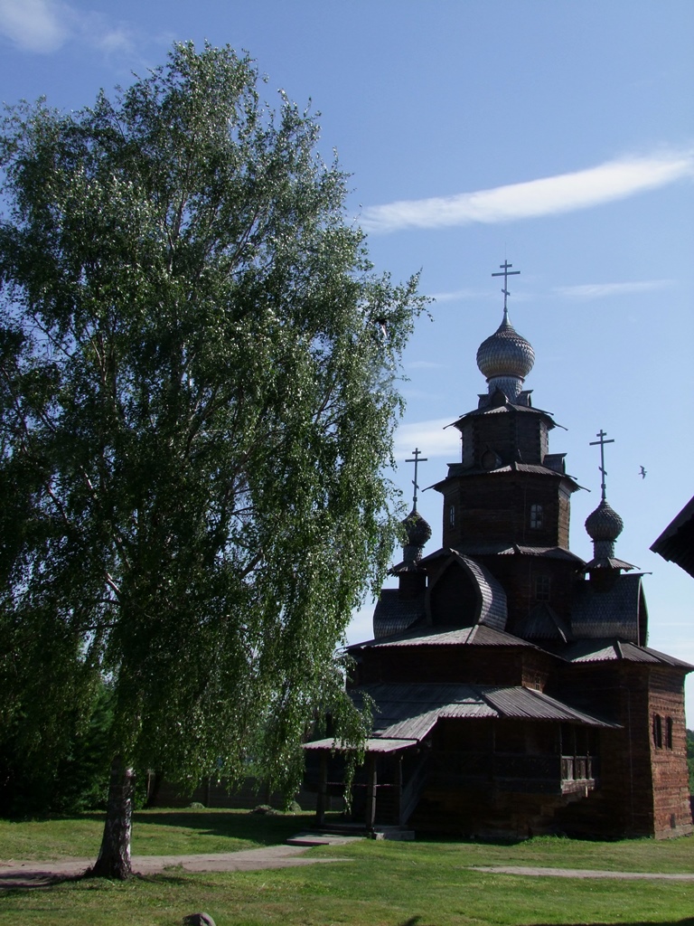
[[[169,854],[267,845],[281,842],[308,820],[302,815],[147,811],[137,815],[133,851]],[[31,843],[37,858],[91,856],[99,841],[99,820],[82,816],[29,823],[2,821],[0,857],[8,857],[8,840],[19,848]],[[81,848],[67,852],[70,845]],[[694,926],[694,882],[531,878],[467,868],[515,864],[690,872],[694,870],[694,839],[591,843],[544,837],[515,845],[363,841],[310,852],[351,860],[250,872],[192,874],[171,869],[124,884],[67,882],[51,888],[3,891],[0,924],[173,926],[186,913],[206,910],[217,926]],[[27,857],[26,852],[11,853],[11,857],[20,855]]]

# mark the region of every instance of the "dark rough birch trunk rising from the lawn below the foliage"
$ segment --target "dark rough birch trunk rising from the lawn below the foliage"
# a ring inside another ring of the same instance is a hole
[[[99,857],[93,868],[87,872],[90,877],[113,878],[117,881],[130,878],[130,831],[134,790],[135,772],[127,768],[122,758],[117,756],[111,765],[104,836]]]

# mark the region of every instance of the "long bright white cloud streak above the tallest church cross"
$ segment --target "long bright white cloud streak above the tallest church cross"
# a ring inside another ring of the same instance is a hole
[[[618,157],[597,167],[477,193],[368,206],[361,223],[367,232],[396,232],[533,219],[600,206],[691,177],[694,177],[694,149],[663,149],[647,156]]]

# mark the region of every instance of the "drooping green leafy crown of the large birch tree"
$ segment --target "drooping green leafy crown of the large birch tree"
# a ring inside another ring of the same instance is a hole
[[[64,628],[129,761],[240,775],[253,751],[291,782],[316,711],[361,723],[333,654],[385,568],[422,300],[373,275],[316,120],[256,82],[176,45],[114,101],[6,120],[0,623],[56,716],[74,682],[33,643]]]

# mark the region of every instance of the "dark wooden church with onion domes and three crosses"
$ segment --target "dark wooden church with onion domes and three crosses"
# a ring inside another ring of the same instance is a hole
[[[442,545],[425,555],[415,491],[398,587],[380,594],[374,639],[349,649],[349,692],[375,705],[353,820],[487,838],[692,832],[694,667],[648,646],[642,577],[615,556],[623,523],[604,475],[586,520],[593,558],[569,550],[579,487],[524,388],[535,356],[503,293],[502,324],[477,350],[487,392],[454,422],[461,458],[435,485]],[[319,820],[343,785],[340,746],[304,746]]]

